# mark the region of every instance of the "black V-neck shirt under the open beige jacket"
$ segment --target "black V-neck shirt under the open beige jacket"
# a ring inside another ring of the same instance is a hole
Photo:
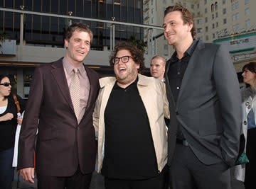
[[[105,157],[102,175],[144,179],[157,176],[156,154],[137,80],[127,88],[116,84],[105,109]]]

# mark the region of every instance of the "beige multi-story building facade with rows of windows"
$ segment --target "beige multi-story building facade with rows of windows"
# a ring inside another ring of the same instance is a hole
[[[256,29],[255,0],[144,0],[144,23],[162,25],[165,8],[174,4],[181,4],[193,13],[196,38],[203,42]],[[149,34],[144,30],[144,40]],[[152,34],[153,38],[158,37],[154,54],[170,57],[174,49],[168,47],[163,30],[153,30]]]

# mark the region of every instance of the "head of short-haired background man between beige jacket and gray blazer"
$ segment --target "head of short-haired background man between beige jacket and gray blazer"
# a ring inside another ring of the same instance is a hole
[[[164,81],[166,59],[160,55],[156,55],[150,62],[150,74],[156,79]]]

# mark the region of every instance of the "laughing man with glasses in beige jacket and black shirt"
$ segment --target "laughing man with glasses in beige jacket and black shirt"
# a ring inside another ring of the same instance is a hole
[[[106,189],[164,188],[169,104],[164,83],[139,74],[143,56],[131,43],[119,43],[110,56],[115,77],[100,79],[93,125]]]

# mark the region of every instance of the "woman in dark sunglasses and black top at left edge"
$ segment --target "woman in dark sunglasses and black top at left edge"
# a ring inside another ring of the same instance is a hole
[[[16,95],[23,112],[26,101]],[[0,188],[11,189],[14,180],[14,142],[17,124],[21,125],[22,118],[17,118],[17,107],[11,94],[9,76],[0,75]]]

